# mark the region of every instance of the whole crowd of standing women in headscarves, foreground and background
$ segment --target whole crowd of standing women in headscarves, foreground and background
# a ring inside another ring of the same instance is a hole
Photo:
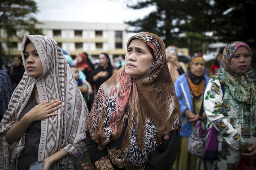
[[[25,34],[21,51],[9,71],[0,60],[0,169],[73,170],[87,155],[95,170],[256,167],[256,76],[244,42],[221,50],[209,77],[202,55],[186,66],[175,45],[146,32],[129,38],[125,59],[101,53],[99,65],[41,35]],[[187,151],[202,108],[218,131],[217,160]]]

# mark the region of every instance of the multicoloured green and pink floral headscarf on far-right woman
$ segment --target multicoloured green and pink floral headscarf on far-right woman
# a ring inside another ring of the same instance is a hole
[[[235,53],[236,49],[239,47],[246,47],[250,52],[251,58],[252,51],[250,47],[241,41],[230,42],[223,51],[223,56],[221,60],[221,68],[218,72],[212,77],[219,79],[223,85],[226,85],[237,102],[245,102],[250,104],[251,113],[256,111],[256,76],[252,71],[252,67],[244,74],[237,74],[233,71],[230,61],[232,55]],[[256,116],[252,114],[252,130],[256,132]]]

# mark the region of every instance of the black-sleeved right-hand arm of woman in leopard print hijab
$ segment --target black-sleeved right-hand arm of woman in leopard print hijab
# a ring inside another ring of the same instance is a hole
[[[144,170],[169,170],[172,167],[180,140],[179,130],[171,131],[169,139],[161,139],[163,143],[157,148]]]

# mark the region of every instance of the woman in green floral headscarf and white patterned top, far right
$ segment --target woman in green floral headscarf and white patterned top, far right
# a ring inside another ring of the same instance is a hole
[[[252,51],[244,42],[231,42],[223,51],[221,68],[204,95],[207,119],[218,131],[218,159],[199,159],[199,169],[235,169],[242,157],[255,164],[256,76],[251,61]]]

